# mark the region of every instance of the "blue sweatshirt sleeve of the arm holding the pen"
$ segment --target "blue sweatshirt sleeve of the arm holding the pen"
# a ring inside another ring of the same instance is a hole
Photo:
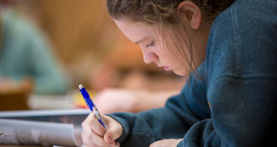
[[[191,75],[189,86],[185,85],[179,95],[171,97],[164,108],[110,115],[123,127],[117,141],[123,147],[141,147],[162,139],[183,138],[192,125],[210,118],[205,88],[205,81]]]

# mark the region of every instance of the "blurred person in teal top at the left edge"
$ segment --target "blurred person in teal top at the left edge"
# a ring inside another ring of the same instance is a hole
[[[69,82],[42,32],[10,8],[0,15],[0,88],[33,85],[37,94],[65,94]]]

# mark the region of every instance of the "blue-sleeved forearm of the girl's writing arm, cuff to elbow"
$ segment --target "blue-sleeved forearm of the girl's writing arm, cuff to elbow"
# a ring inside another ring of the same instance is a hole
[[[122,147],[149,146],[162,139],[182,138],[189,129],[169,108],[152,109],[138,114],[114,113],[110,116],[123,127],[123,134],[117,140]]]

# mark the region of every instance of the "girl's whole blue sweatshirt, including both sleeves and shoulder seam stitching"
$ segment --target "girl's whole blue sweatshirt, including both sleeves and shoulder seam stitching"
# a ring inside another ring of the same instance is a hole
[[[277,1],[237,0],[213,22],[204,81],[190,84],[164,108],[114,113],[121,147],[183,138],[177,147],[267,146],[277,116]]]

